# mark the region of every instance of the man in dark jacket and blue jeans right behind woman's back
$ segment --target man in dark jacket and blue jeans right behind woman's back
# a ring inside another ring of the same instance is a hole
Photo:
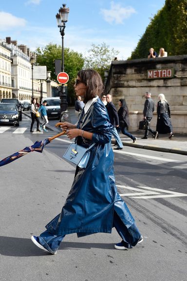
[[[118,118],[118,114],[115,109],[115,106],[112,102],[112,96],[110,94],[106,95],[106,100],[107,100],[106,108],[107,108],[107,111],[109,114],[110,122],[113,126],[112,135],[115,138],[116,143],[117,143],[117,147],[114,149],[116,149],[116,150],[123,149],[123,143],[121,142],[118,132],[116,130],[116,127],[119,127],[119,118]]]

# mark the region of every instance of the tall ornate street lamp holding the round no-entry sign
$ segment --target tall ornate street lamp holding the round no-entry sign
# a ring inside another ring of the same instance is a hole
[[[60,28],[60,34],[62,37],[62,64],[61,71],[64,72],[64,29],[66,27],[66,22],[68,21],[68,15],[70,12],[69,8],[66,8],[66,4],[62,4],[63,7],[60,7],[59,14],[56,14],[57,26]],[[65,85],[62,84],[60,87],[60,109],[61,109],[61,120],[67,120],[67,97]],[[66,113],[65,113],[66,112]]]

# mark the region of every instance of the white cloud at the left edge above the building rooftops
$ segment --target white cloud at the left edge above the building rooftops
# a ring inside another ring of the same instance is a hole
[[[10,13],[0,12],[0,31],[25,26],[26,20],[17,18]]]

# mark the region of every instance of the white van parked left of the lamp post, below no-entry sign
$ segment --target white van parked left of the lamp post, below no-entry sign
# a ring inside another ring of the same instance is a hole
[[[43,98],[42,102],[47,101],[47,116],[48,118],[60,118],[60,98],[59,97],[51,97],[51,98]]]

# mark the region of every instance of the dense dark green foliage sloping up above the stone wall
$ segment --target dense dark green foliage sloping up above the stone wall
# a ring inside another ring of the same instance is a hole
[[[166,0],[164,7],[150,20],[130,59],[147,58],[150,47],[163,47],[168,55],[187,53],[187,0]]]

